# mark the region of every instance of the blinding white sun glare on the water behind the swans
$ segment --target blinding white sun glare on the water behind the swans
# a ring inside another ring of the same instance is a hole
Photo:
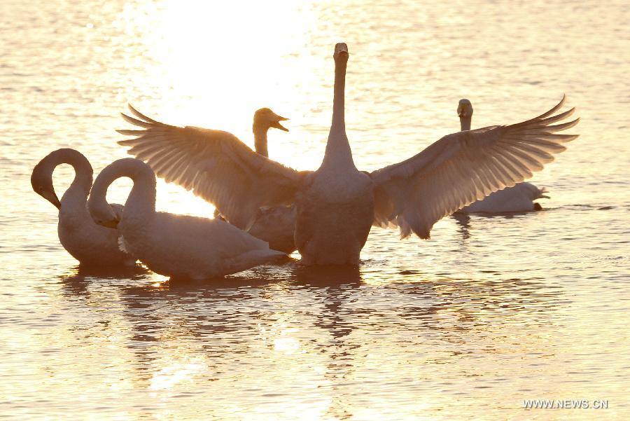
[[[165,1],[158,12],[126,7],[120,25],[139,37],[151,62],[134,81],[137,92],[129,95],[150,99],[141,99],[139,108],[146,107],[144,112],[158,120],[225,130],[252,148],[253,112],[269,107],[290,118],[288,134],[269,131],[272,158],[297,169],[314,169],[325,134],[314,137],[302,131],[312,101],[304,102],[304,95],[322,83],[312,71],[316,66],[309,66],[322,53],[311,46],[317,20],[304,12],[309,4],[235,1],[217,7],[214,2]],[[319,149],[304,151],[307,142]],[[214,211],[204,200],[161,181],[157,206],[200,216]]]

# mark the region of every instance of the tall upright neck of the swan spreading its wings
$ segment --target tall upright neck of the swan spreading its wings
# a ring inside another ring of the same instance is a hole
[[[332,124],[328,134],[328,143],[322,167],[355,168],[352,151],[346,136],[346,120],[344,116],[344,89],[346,86],[347,57],[335,60],[335,90],[332,99]]]

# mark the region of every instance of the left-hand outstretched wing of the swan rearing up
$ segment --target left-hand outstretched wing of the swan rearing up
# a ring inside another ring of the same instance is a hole
[[[263,206],[290,204],[304,173],[252,151],[234,134],[200,127],[177,127],[144,116],[131,105],[128,123],[144,130],[118,142],[144,160],[158,177],[213,203],[225,219],[248,229]]]

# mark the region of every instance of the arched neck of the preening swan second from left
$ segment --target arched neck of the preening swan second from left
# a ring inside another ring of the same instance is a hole
[[[107,188],[120,177],[129,177],[134,182],[123,211],[125,225],[147,223],[155,214],[155,173],[151,167],[134,158],[119,159],[104,168],[92,186],[90,209],[109,207]]]

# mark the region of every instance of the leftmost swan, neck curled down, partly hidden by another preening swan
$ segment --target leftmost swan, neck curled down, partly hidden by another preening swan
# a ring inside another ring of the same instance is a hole
[[[60,164],[72,165],[75,172],[61,201],[52,186],[52,172]],[[79,263],[133,265],[136,259],[118,248],[118,230],[97,225],[87,212],[87,194],[92,188],[93,174],[92,165],[82,153],[74,149],[57,149],[35,165],[31,186],[35,193],[59,209],[59,242]],[[116,212],[122,212],[121,205],[111,206]]]

